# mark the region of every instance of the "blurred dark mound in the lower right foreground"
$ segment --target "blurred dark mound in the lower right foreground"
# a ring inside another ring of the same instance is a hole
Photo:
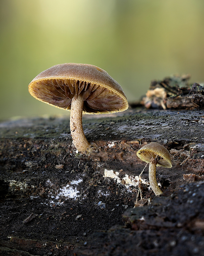
[[[204,182],[160,196],[144,207],[129,208],[126,227],[97,231],[75,249],[77,255],[203,255]]]

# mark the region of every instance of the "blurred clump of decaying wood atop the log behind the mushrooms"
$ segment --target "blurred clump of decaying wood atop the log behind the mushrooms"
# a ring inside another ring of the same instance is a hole
[[[189,79],[189,75],[184,75],[153,80],[146,96],[130,105],[140,104],[148,109],[204,109],[204,87],[197,83],[191,85]]]

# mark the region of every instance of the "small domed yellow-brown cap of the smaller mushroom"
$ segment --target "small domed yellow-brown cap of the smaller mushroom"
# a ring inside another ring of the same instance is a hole
[[[137,152],[137,156],[146,163],[149,163],[152,158],[159,157],[157,159],[157,166],[166,168],[172,167],[171,157],[168,150],[164,146],[155,142],[151,142],[141,147]]]

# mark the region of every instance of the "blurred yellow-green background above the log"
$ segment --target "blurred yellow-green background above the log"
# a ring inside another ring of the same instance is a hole
[[[203,82],[204,1],[0,1],[0,120],[68,114],[28,93],[38,73],[65,62],[105,69],[128,101],[172,74]]]

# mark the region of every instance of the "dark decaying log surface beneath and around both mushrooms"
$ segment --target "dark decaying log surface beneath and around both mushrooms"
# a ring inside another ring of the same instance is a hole
[[[0,123],[0,255],[202,255],[203,111],[86,116],[85,135],[98,146],[90,156],[76,153],[68,123]],[[149,142],[172,159],[171,169],[157,167],[164,193],[152,202],[148,168],[142,173],[136,155]]]

